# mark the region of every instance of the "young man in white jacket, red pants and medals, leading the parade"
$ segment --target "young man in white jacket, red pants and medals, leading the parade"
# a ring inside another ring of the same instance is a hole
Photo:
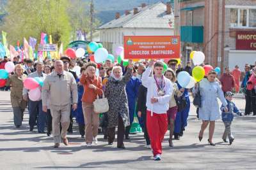
[[[154,76],[150,77],[154,65]],[[142,85],[147,87],[147,130],[154,160],[161,160],[162,141],[167,131],[166,111],[169,109],[172,83],[163,76],[163,62],[151,60],[142,74]]]

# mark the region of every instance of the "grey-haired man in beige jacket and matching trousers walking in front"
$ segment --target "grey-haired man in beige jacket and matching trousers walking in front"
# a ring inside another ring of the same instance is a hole
[[[58,148],[61,138],[63,143],[68,145],[67,129],[70,124],[70,106],[72,104],[73,110],[77,108],[77,84],[74,76],[63,70],[61,60],[55,61],[54,69],[55,71],[45,78],[44,87],[42,88],[42,103],[43,111],[46,112],[47,96],[50,96],[54,148]]]

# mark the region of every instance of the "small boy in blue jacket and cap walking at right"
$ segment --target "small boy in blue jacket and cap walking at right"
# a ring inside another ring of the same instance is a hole
[[[236,104],[234,104],[232,102],[232,96],[234,96],[234,94],[232,94],[232,92],[226,92],[225,94],[225,98],[227,100],[227,108],[228,108],[228,111],[225,112],[224,111],[224,106],[221,105],[221,118],[222,118],[222,121],[225,125],[225,131],[223,133],[223,136],[222,136],[222,139],[225,143],[227,143],[227,136],[228,136],[228,140],[229,140],[229,144],[232,145],[233,141],[234,141],[234,137],[232,136],[232,133],[231,133],[231,129],[230,129],[230,126],[231,126],[231,123],[233,121],[233,118],[234,118],[234,115],[233,113],[237,113],[237,115],[239,116],[242,116],[242,113],[241,111],[236,107]]]

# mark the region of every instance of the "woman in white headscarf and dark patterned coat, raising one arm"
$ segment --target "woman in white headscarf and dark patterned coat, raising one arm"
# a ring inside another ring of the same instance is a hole
[[[113,145],[115,139],[115,127],[118,126],[117,147],[125,149],[125,127],[130,125],[128,99],[125,85],[132,76],[132,65],[129,64],[125,76],[122,76],[122,67],[114,66],[106,84],[105,95],[108,97],[108,143]]]

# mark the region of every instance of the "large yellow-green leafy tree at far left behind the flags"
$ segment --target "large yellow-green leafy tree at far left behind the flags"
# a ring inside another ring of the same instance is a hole
[[[9,0],[6,6],[8,15],[4,17],[0,30],[8,33],[8,41],[13,45],[29,36],[39,42],[41,32],[45,32],[52,35],[53,43],[67,46],[72,31],[68,3],[68,0]]]

